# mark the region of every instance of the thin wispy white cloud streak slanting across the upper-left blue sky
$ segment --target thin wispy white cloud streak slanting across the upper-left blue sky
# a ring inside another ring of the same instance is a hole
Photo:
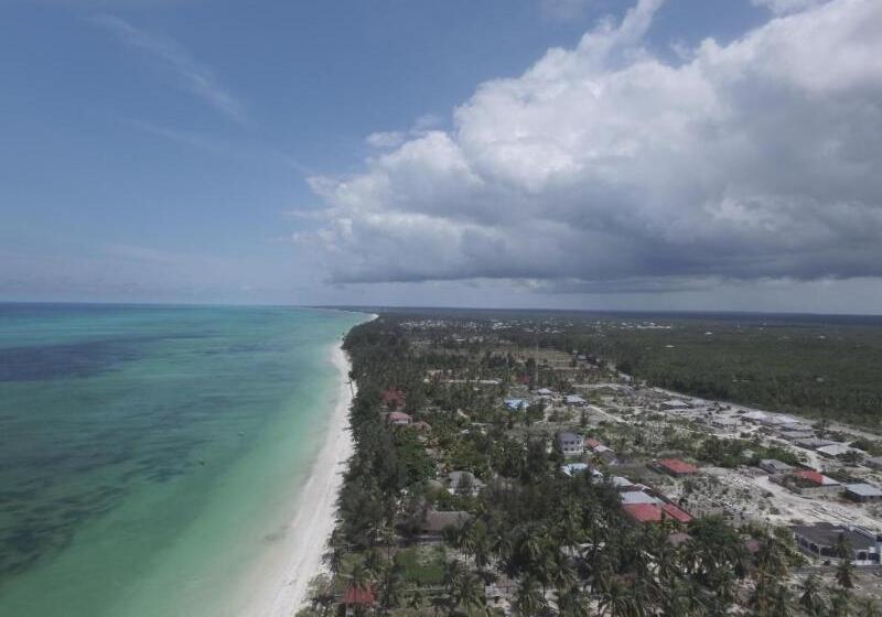
[[[89,21],[110,32],[126,45],[148,54],[174,76],[182,89],[201,98],[230,120],[239,123],[247,121],[241,101],[220,85],[208,67],[196,61],[176,41],[144,32],[114,15],[96,15]]]

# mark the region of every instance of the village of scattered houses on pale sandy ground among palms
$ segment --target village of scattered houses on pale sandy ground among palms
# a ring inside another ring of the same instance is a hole
[[[435,318],[399,327],[426,359],[422,387],[430,393],[413,405],[404,387],[381,392],[380,421],[407,434],[431,466],[431,497],[412,518],[409,559],[431,562],[438,546],[451,545],[474,519],[482,492],[512,481],[464,445],[486,443],[502,430],[519,443],[538,440],[562,476],[611,487],[632,526],[664,529],[671,544],[687,542],[690,523],[706,518],[742,530],[749,554],[762,550],[754,530],[783,530],[802,554],[802,565],[788,573],[794,585],[809,575],[832,581],[848,561],[861,597],[882,598],[879,435],[652,388],[584,350],[526,347],[506,336],[512,329],[552,332],[553,323]],[[483,359],[463,360],[469,357]],[[496,572],[484,588],[486,605],[499,615],[523,615],[516,592],[516,582]],[[378,595],[349,586],[337,599],[354,615],[376,606]]]

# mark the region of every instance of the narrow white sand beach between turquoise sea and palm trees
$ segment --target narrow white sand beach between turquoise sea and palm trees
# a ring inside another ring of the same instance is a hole
[[[334,530],[343,472],[354,448],[348,431],[353,399],[348,383],[349,359],[338,346],[334,347],[331,360],[341,374],[336,408],[327,427],[327,441],[300,494],[298,515],[289,527],[286,549],[290,559],[282,564],[281,587],[249,606],[245,614],[248,617],[291,617],[306,599],[310,581],[326,571],[322,555]]]

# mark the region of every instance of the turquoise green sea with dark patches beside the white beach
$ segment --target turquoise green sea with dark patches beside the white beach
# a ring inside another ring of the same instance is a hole
[[[0,615],[236,615],[364,317],[0,305]]]

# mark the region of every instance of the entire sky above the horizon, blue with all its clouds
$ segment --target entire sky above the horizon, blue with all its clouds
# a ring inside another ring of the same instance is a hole
[[[878,0],[0,14],[0,301],[882,313]]]

